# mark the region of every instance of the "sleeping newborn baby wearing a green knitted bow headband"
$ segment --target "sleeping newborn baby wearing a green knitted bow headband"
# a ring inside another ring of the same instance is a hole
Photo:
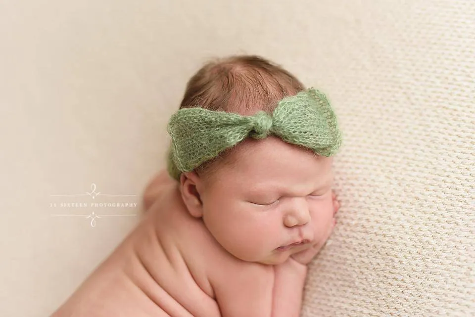
[[[142,222],[52,317],[299,316],[339,208],[324,95],[234,56],[190,79],[168,131]]]

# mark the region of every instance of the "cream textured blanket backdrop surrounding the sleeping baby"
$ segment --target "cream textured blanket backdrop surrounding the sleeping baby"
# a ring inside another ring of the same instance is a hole
[[[345,133],[303,315],[475,316],[473,0],[0,0],[0,316],[47,316],[120,243],[186,81],[233,53]]]

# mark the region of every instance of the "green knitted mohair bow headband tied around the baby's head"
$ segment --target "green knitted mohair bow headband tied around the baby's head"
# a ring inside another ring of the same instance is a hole
[[[272,115],[180,109],[170,118],[167,130],[172,138],[168,172],[176,180],[182,172],[194,170],[248,136],[262,139],[275,135],[323,156],[333,155],[342,141],[330,103],[315,89],[283,98]]]

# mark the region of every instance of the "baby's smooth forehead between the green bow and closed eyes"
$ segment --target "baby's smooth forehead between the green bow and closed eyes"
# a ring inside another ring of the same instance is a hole
[[[332,159],[270,136],[228,150],[215,171],[216,180],[239,188],[317,187],[332,178]]]

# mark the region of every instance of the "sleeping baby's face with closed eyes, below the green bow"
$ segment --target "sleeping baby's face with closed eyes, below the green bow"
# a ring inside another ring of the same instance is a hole
[[[203,221],[237,258],[281,264],[327,238],[333,225],[332,158],[276,137],[246,140],[235,164],[203,181]],[[214,180],[214,181],[213,181]],[[288,246],[291,243],[308,242]]]

